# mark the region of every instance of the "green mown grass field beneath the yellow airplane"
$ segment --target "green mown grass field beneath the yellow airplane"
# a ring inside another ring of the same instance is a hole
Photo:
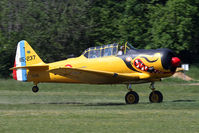
[[[164,102],[151,104],[149,84],[126,105],[124,85],[39,84],[0,80],[0,133],[198,133],[199,86],[163,81]]]

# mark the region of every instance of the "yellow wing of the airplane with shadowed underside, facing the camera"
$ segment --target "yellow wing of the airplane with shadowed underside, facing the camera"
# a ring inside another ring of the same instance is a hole
[[[49,72],[65,76],[71,79],[79,80],[83,83],[124,83],[132,80],[147,79],[150,75],[145,73],[114,73],[85,68],[55,68]]]

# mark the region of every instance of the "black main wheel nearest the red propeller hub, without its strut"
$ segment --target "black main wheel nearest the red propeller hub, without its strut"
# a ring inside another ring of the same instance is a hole
[[[149,95],[149,101],[151,103],[161,103],[163,101],[163,95],[160,91],[153,91]]]

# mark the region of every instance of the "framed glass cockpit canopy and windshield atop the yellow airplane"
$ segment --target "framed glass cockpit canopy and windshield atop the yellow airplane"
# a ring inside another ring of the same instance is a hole
[[[135,49],[130,43],[125,43],[125,50],[124,54],[129,49]],[[116,56],[118,53],[118,44],[108,44],[104,46],[96,46],[86,49],[82,55],[84,55],[86,58],[99,58],[99,57],[105,57],[105,56]]]

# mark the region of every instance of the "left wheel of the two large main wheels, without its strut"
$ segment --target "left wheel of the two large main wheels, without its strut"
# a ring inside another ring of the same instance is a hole
[[[139,102],[139,95],[135,91],[130,91],[125,96],[126,104],[136,104]]]

